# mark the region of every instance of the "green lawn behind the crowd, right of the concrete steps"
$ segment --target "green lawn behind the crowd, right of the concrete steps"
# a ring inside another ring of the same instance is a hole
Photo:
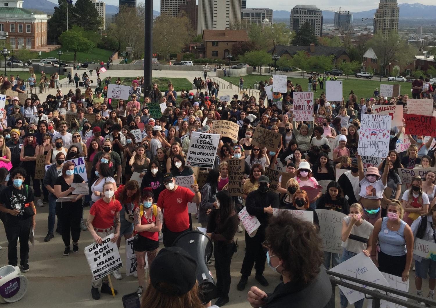
[[[251,85],[253,85],[255,82],[259,81],[265,81],[271,77],[271,75],[246,75],[243,76],[244,78],[244,86],[246,88],[250,88]],[[223,77],[226,81],[232,81],[235,85],[239,84],[239,78],[240,77]],[[293,85],[299,84],[302,85],[303,91],[307,91],[307,78],[288,78],[292,81]],[[345,99],[348,98],[349,93],[351,90],[354,91],[354,94],[357,95],[358,98],[364,97],[364,98],[371,98],[374,96],[374,90],[376,88],[380,89],[380,84],[392,84],[392,83],[399,83],[401,85],[401,93],[402,94],[410,94],[410,88],[412,87],[412,84],[409,82],[393,82],[393,81],[387,81],[386,78],[381,78],[381,82],[379,78],[373,78],[371,80],[368,79],[342,79],[339,78],[338,80],[343,81],[343,88],[342,88],[342,95]],[[325,82],[324,82],[324,91],[325,91]],[[317,92],[321,93],[319,89],[319,85],[317,86]],[[315,95],[316,96],[316,95]]]

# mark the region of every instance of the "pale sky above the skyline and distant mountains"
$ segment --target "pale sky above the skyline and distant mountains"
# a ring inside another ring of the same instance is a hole
[[[222,1],[222,0],[220,0]],[[108,4],[115,4],[115,0],[106,0]],[[415,3],[416,0],[397,0],[400,3]],[[197,1],[198,3],[198,1]],[[247,0],[247,7],[266,7],[265,0]],[[289,1],[289,0],[276,0],[269,3],[269,8],[272,10],[286,10],[290,11],[297,4],[315,4],[322,10],[338,10],[342,6],[341,10],[349,10],[351,12],[361,12],[366,10],[376,9],[378,7],[377,0],[366,1],[351,1],[350,0],[323,0],[321,1],[305,2],[305,1]],[[424,5],[434,5],[433,0],[420,0],[419,3]],[[153,10],[160,11],[160,0],[153,0]]]

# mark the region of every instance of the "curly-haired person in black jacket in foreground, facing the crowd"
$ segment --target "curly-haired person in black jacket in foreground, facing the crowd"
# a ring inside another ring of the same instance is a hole
[[[266,228],[266,259],[272,271],[283,276],[274,292],[257,287],[248,292],[253,308],[332,308],[331,284],[323,264],[320,238],[313,224],[282,213]]]

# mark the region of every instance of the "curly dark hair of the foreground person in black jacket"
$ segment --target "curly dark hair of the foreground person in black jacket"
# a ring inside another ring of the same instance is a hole
[[[283,260],[282,273],[288,274],[296,285],[306,285],[317,277],[324,253],[313,223],[294,218],[290,213],[272,216],[265,240],[272,253]]]

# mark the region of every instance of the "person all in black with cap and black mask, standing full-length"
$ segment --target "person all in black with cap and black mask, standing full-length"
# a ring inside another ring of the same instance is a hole
[[[262,286],[268,286],[268,281],[263,277],[266,254],[263,250],[262,243],[265,240],[265,228],[268,224],[269,217],[272,215],[272,208],[279,208],[279,196],[269,190],[268,176],[259,177],[259,189],[247,195],[245,207],[250,215],[257,217],[260,227],[253,237],[250,237],[249,234],[245,232],[245,257],[241,268],[242,277],[236,287],[238,291],[244,290],[254,264],[256,270],[255,279],[259,281]]]

